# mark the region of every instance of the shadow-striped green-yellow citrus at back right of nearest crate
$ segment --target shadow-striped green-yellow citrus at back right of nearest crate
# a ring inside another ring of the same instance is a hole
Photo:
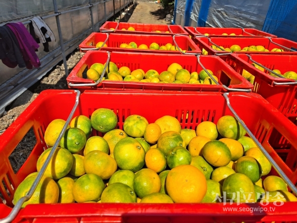
[[[217,129],[224,138],[238,140],[244,135],[243,126],[231,115],[225,115],[219,118]]]

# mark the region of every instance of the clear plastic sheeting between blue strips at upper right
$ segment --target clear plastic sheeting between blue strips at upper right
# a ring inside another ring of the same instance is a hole
[[[211,0],[206,26],[261,30],[270,0]]]

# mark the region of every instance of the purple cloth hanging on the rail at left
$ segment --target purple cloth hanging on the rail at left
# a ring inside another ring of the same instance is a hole
[[[35,53],[35,50],[39,48],[39,45],[32,38],[26,27],[21,22],[6,24],[14,33],[17,41],[19,42],[23,58],[28,69],[32,69],[33,66],[39,67],[40,60]],[[33,66],[32,66],[33,65]]]

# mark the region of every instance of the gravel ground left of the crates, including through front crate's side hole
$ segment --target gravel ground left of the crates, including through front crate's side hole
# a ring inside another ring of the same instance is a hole
[[[83,53],[73,52],[67,59],[67,67],[70,71],[78,63]],[[38,83],[26,90],[9,107],[8,111],[0,117],[0,135],[5,129],[34,101],[40,92],[46,89],[67,89],[64,65],[56,65]],[[16,173],[29,157],[36,144],[36,137],[33,129],[29,130],[23,140],[18,144],[13,153],[9,156],[10,164]],[[1,196],[0,196],[1,197]]]

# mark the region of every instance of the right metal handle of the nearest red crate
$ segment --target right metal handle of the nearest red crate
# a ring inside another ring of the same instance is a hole
[[[261,150],[261,152],[264,154],[264,156],[269,160],[272,167],[277,171],[277,173],[282,177],[282,179],[287,183],[287,185],[291,188],[291,190],[297,194],[297,188],[292,183],[292,181],[289,179],[289,177],[284,173],[284,171],[276,164],[276,162],[272,159],[272,157],[268,154],[268,152],[264,149],[264,147],[259,143],[259,141],[256,139],[256,137],[251,133],[251,131],[247,128],[247,125],[243,122],[243,120],[239,117],[239,115],[236,113],[236,111],[232,108],[230,104],[230,100],[228,97],[229,93],[224,93],[223,96],[226,99],[227,107],[230,109],[230,111],[233,113],[235,118],[238,120],[238,122],[243,126],[243,128],[247,131],[247,134],[252,138],[252,140],[255,142],[257,147]]]

